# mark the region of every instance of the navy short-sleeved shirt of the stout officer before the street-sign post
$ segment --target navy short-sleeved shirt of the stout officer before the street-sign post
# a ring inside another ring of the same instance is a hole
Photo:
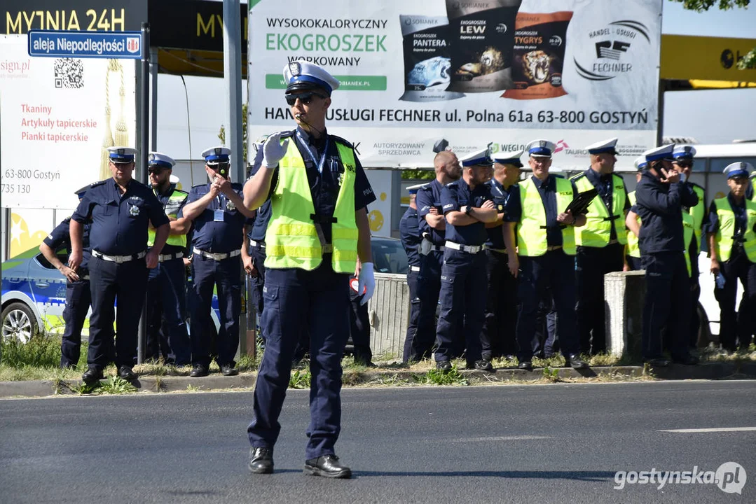
[[[147,249],[147,221],[158,228],[168,224],[163,205],[152,187],[131,180],[121,194],[113,178],[95,182],[71,218],[91,221],[89,245],[105,255],[135,255]]]

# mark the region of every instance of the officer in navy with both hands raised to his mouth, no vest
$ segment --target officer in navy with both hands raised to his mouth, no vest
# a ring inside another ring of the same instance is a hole
[[[194,222],[192,235],[192,288],[190,340],[192,370],[196,378],[209,373],[212,342],[212,291],[218,288],[221,327],[215,342],[215,361],[223,376],[239,373],[234,357],[239,347],[241,314],[241,248],[244,224],[253,212],[244,206],[242,185],[231,182],[231,149],[210,147],[205,158],[207,184],[191,188],[179,218]]]

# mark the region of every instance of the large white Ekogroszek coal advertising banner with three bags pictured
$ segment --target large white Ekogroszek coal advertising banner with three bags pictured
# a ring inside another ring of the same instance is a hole
[[[431,166],[546,138],[554,165],[618,137],[618,168],[655,145],[662,0],[249,2],[249,138],[292,128],[283,67],[341,81],[329,131],[373,167]]]

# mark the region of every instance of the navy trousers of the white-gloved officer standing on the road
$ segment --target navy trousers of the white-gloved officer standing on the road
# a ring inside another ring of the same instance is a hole
[[[280,432],[299,335],[310,335],[310,425],[306,459],[334,453],[341,431],[341,359],[349,338],[349,275],[334,273],[330,255],[313,271],[268,269],[262,323],[268,341],[255,386],[253,447],[272,448]]]

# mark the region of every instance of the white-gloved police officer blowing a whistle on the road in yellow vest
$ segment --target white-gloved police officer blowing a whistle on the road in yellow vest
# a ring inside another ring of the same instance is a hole
[[[259,150],[244,203],[270,199],[265,233],[265,310],[268,342],[255,387],[249,471],[273,472],[278,417],[289,385],[299,335],[310,335],[310,425],[304,472],[352,475],[336,456],[341,429],[341,358],[349,338],[349,276],[358,277],[362,303],[373,295],[373,258],[366,207],[375,200],[352,144],[330,135],[325,119],[339,81],[320,66],[293,61],[283,69],[293,131],[268,137]]]

